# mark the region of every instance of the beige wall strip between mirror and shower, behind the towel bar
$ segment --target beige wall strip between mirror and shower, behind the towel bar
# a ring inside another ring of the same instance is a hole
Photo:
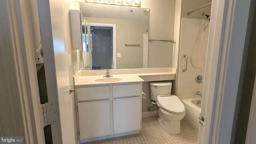
[[[141,0],[142,8],[150,9],[149,38],[174,38],[175,0]],[[172,42],[148,43],[148,68],[172,66]]]

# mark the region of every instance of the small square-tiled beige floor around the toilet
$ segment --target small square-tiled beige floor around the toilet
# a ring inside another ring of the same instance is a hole
[[[178,135],[166,133],[158,123],[158,116],[142,118],[139,134],[109,138],[83,144],[197,144],[198,132],[181,121]]]

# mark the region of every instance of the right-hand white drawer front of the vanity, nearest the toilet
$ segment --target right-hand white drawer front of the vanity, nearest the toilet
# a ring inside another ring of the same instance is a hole
[[[113,86],[113,98],[126,97],[126,96],[140,96],[141,84],[127,84]]]

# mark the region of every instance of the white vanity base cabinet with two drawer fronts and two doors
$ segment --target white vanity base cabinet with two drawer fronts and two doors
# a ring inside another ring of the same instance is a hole
[[[76,87],[80,142],[136,134],[141,129],[142,82]]]

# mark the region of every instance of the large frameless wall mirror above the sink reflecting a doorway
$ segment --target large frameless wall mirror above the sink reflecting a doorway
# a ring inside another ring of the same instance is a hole
[[[92,40],[91,49],[78,50],[80,70],[147,68],[149,9],[76,3]]]

